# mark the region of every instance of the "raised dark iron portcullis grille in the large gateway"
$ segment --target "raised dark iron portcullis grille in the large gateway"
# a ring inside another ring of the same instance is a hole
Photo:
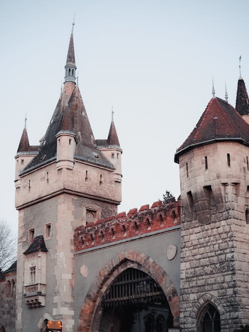
[[[111,285],[103,297],[102,305],[121,307],[164,302],[165,295],[160,286],[146,273],[129,268]]]

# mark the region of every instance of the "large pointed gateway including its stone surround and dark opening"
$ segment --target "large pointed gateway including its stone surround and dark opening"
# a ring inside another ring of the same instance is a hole
[[[83,304],[78,332],[166,332],[178,326],[179,304],[166,272],[129,250],[99,272]]]

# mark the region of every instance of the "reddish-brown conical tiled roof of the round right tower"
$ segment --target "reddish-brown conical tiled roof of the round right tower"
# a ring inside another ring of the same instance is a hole
[[[177,149],[175,162],[179,156],[193,147],[215,141],[239,141],[249,145],[249,125],[234,107],[220,98],[212,98],[194,130]]]

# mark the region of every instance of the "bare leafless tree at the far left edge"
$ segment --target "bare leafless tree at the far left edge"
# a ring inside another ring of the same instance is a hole
[[[16,237],[7,222],[0,219],[0,270],[6,270],[15,260]]]

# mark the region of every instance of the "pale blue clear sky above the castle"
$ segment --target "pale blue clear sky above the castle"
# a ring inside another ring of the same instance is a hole
[[[119,212],[180,194],[176,149],[212,97],[249,84],[247,0],[0,0],[0,219],[16,232],[14,156],[45,134],[64,82],[75,13],[79,88],[95,139],[114,121],[123,149]]]

